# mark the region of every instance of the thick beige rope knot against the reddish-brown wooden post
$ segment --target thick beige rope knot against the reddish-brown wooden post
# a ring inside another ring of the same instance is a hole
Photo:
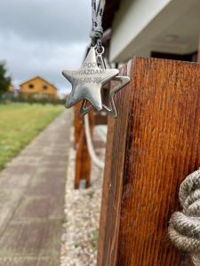
[[[169,236],[175,246],[191,254],[195,265],[200,266],[200,169],[180,184],[182,212],[170,219]]]

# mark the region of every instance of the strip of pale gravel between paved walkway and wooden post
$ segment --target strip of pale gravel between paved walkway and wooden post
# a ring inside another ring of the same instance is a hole
[[[105,128],[103,131],[105,133]],[[73,136],[72,129],[72,144]],[[94,144],[102,144],[102,134],[98,127],[94,130],[93,138]],[[105,145],[98,145],[96,153],[104,160]],[[97,256],[103,171],[92,166],[92,186],[87,190],[74,190],[75,156],[76,151],[71,145],[66,184],[66,223],[63,224],[60,266],[94,266]]]

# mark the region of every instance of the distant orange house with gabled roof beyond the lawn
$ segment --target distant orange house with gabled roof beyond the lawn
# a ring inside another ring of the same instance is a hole
[[[43,78],[36,76],[20,84],[20,95],[24,98],[57,98],[57,89]]]

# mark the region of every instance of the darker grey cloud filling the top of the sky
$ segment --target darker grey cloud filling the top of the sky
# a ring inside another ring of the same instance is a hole
[[[34,42],[81,42],[90,32],[90,0],[1,0],[1,34]]]

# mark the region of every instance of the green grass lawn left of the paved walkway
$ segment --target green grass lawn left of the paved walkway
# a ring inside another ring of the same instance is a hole
[[[0,105],[0,169],[62,111],[63,106]]]

